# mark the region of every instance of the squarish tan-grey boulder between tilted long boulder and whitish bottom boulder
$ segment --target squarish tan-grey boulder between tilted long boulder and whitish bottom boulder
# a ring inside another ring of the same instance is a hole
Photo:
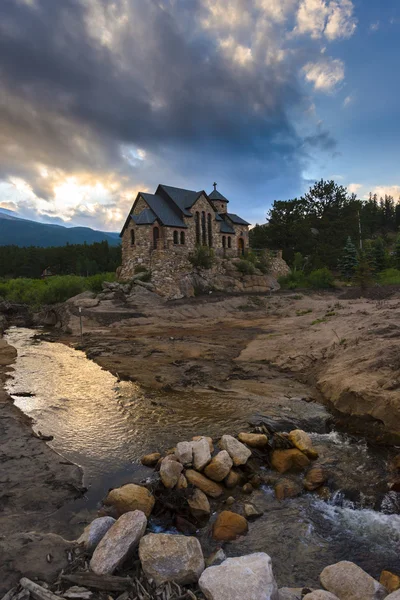
[[[139,558],[146,577],[156,585],[175,581],[196,583],[204,571],[204,557],[195,537],[150,533],[139,544]]]

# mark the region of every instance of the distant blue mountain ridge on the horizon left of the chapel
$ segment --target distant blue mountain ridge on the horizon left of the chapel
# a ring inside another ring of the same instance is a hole
[[[107,241],[110,246],[120,243],[117,233],[96,231],[90,227],[63,227],[21,219],[11,210],[0,208],[0,246],[65,246]]]

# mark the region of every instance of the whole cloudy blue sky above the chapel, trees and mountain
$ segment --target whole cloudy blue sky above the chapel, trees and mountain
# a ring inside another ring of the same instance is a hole
[[[1,0],[0,207],[119,231],[138,191],[265,222],[334,179],[400,196],[398,0]]]

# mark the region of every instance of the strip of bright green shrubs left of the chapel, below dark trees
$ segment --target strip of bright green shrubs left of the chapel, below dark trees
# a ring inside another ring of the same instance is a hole
[[[115,281],[114,273],[91,277],[57,275],[47,279],[8,279],[0,281],[0,297],[9,302],[39,307],[65,302],[82,292],[100,292],[104,281]]]

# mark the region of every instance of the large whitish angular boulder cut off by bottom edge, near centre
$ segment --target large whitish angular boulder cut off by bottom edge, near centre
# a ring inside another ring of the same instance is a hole
[[[208,567],[199,587],[207,600],[279,600],[271,559],[264,552]]]

